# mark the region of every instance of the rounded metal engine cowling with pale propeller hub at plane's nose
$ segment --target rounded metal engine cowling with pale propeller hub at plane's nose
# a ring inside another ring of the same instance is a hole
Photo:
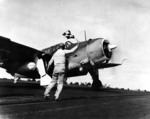
[[[94,64],[109,61],[112,56],[112,50],[116,47],[116,45],[111,45],[106,39],[92,39],[88,41],[87,56]]]

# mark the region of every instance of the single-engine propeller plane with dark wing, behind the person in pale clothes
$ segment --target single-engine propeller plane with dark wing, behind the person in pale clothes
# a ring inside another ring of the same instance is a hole
[[[73,35],[63,34],[67,39],[74,38]],[[0,36],[0,67],[6,69],[15,78],[40,78],[38,72],[37,60],[41,57],[44,61],[46,72],[51,75],[53,67],[47,68],[48,62],[52,55],[59,48],[59,44],[37,50],[16,42],[9,38]],[[77,43],[72,43],[71,40],[65,43],[66,49],[71,49]],[[111,45],[104,38],[89,39],[79,42],[78,48],[66,55],[67,59],[67,77],[83,76],[90,73],[93,83],[93,89],[102,87],[99,80],[98,69],[110,68],[121,65],[119,63],[109,63],[112,52],[116,45]]]

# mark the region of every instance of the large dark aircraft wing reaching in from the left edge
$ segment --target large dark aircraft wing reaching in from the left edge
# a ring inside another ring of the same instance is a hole
[[[12,70],[15,63],[35,62],[35,57],[42,53],[42,51],[0,36],[0,67],[5,68],[8,72]]]

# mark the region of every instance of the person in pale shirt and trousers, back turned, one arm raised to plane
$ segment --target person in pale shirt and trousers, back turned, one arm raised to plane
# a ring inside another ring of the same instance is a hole
[[[77,40],[78,42],[78,40]],[[48,99],[49,93],[51,89],[54,87],[54,85],[57,83],[57,90],[55,92],[55,100],[57,101],[59,98],[59,95],[63,89],[63,83],[65,79],[65,73],[66,73],[66,57],[65,55],[67,53],[74,52],[79,46],[78,44],[72,48],[71,50],[66,50],[65,45],[61,44],[59,49],[54,53],[53,57],[49,61],[48,67],[54,62],[54,70],[52,74],[52,80],[50,81],[49,85],[46,87],[46,90],[44,92],[44,99]]]

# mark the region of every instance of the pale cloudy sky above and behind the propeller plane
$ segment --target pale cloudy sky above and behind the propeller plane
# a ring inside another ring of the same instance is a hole
[[[84,30],[88,38],[107,38],[118,46],[112,62],[127,59],[99,70],[103,84],[150,90],[149,0],[0,0],[0,35],[15,42],[40,50],[65,42],[68,29],[80,41]],[[89,75],[72,80],[92,81]]]

